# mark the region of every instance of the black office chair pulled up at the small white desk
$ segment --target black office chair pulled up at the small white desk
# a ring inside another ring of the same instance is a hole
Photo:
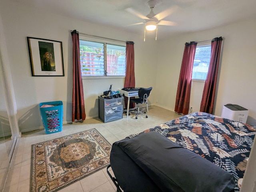
[[[135,117],[136,119],[138,119],[139,114],[146,114],[146,112],[144,111],[144,108],[142,108],[142,110],[140,110],[140,104],[146,103],[147,112],[148,112],[148,97],[149,97],[151,90],[152,90],[152,87],[139,88],[139,92],[138,92],[139,98],[134,98],[134,99],[130,100],[130,102],[138,104],[138,109],[137,109],[137,113],[136,113],[136,117]],[[146,114],[146,118],[148,118],[147,114]]]

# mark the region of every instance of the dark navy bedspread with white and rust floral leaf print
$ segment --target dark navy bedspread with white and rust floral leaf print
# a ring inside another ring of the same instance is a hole
[[[164,134],[173,142],[230,172],[235,178],[235,191],[240,190],[256,127],[196,112],[144,130],[149,131]]]

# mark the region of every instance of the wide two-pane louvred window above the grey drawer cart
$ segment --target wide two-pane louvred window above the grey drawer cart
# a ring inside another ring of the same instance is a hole
[[[82,76],[125,76],[126,46],[79,40]]]

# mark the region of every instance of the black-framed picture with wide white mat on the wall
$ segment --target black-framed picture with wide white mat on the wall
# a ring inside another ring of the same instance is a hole
[[[62,42],[27,37],[32,76],[64,76]]]

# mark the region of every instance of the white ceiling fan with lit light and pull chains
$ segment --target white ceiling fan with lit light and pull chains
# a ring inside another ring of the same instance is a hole
[[[167,25],[167,26],[174,26],[176,25],[175,22],[162,20],[163,18],[166,18],[170,14],[172,14],[178,6],[172,6],[171,8],[164,10],[158,14],[155,14],[153,12],[153,8],[156,7],[159,0],[150,0],[148,1],[148,6],[150,7],[151,11],[147,16],[144,16],[143,14],[137,12],[136,10],[132,8],[126,8],[126,11],[145,20],[145,22],[135,23],[132,25],[138,25],[138,24],[144,24],[145,23],[145,29],[144,29],[144,41],[145,41],[145,35],[146,30],[153,31],[156,30],[156,38],[157,38],[157,29],[158,25]]]

